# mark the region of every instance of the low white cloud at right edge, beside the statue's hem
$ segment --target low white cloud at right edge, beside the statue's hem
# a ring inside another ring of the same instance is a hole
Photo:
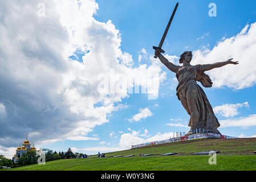
[[[220,127],[250,127],[256,126],[256,114],[248,117],[240,117],[234,119],[225,119],[220,121]]]

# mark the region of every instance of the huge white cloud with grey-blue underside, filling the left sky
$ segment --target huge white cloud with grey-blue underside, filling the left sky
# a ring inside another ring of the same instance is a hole
[[[46,16],[38,16],[38,3],[44,3]],[[97,76],[111,70],[147,75],[136,83],[144,86],[155,75],[157,84],[165,79],[160,63],[132,67],[119,30],[111,20],[95,20],[97,10],[94,0],[0,2],[0,103],[6,113],[0,146],[16,147],[26,133],[38,144],[97,140],[90,132],[109,122],[108,115],[121,109],[116,102],[128,97],[127,90],[97,92]],[[76,53],[84,54],[82,63],[69,58]],[[149,95],[157,96],[155,86]]]

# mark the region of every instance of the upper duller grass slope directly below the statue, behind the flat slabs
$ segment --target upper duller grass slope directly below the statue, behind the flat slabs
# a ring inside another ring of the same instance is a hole
[[[165,154],[178,152],[178,155],[191,155],[193,152],[221,151],[224,155],[253,154],[256,150],[256,138],[235,139],[197,139],[185,142],[157,144],[154,146],[133,148],[130,150],[109,152],[105,156]],[[96,155],[95,155],[96,156]]]

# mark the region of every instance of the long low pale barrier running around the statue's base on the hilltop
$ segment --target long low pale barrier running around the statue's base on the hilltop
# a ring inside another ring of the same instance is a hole
[[[194,140],[194,139],[200,139],[200,138],[237,138],[237,137],[230,137],[227,135],[221,135],[221,134],[216,134],[216,133],[201,133],[201,134],[185,135],[183,137],[175,137],[175,138],[160,140],[160,141],[156,141],[156,142],[141,143],[141,144],[132,146],[132,148],[151,146],[151,145],[162,144],[162,143],[172,143],[172,142],[180,142],[180,141],[186,141],[186,140]]]

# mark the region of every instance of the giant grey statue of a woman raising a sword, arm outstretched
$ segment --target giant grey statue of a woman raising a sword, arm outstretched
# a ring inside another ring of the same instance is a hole
[[[161,53],[165,51],[162,50],[162,44],[164,42],[165,36],[169,30],[170,23],[172,23],[173,16],[177,10],[178,3],[174,8],[173,14],[169,20],[168,26],[165,29],[164,35],[162,36],[159,47],[153,46],[155,49],[155,58],[159,57],[162,64],[164,64],[170,71],[176,73],[178,80],[177,96],[178,100],[181,101],[182,106],[185,108],[187,113],[190,115],[189,124],[190,130],[186,135],[191,135],[195,133],[216,133],[220,134],[217,128],[220,126],[218,119],[214,115],[213,108],[210,105],[208,98],[204,90],[197,84],[200,81],[201,84],[208,88],[211,87],[213,82],[210,77],[205,74],[214,68],[220,68],[227,64],[238,64],[238,61],[222,61],[213,64],[198,64],[191,65],[192,52],[185,51],[180,56],[180,65],[174,65],[170,63]]]

